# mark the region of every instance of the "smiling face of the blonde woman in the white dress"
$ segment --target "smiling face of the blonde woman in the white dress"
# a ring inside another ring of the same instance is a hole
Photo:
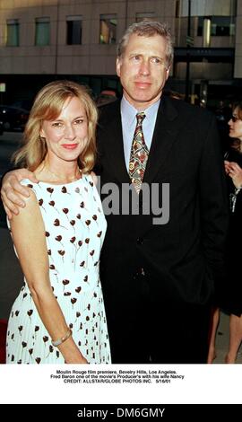
[[[55,120],[43,121],[40,136],[46,139],[49,156],[77,160],[88,142],[88,121],[81,101],[68,98]]]

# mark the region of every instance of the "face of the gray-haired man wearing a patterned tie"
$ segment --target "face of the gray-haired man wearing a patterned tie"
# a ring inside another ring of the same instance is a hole
[[[166,48],[167,41],[160,35],[132,34],[123,56],[117,58],[117,75],[125,98],[136,110],[147,109],[160,98],[169,77]]]

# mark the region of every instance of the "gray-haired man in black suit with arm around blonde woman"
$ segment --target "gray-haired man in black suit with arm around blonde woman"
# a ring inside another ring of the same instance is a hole
[[[166,25],[131,25],[117,49],[123,99],[99,118],[108,219],[100,274],[117,364],[205,363],[212,293],[223,273],[228,211],[216,122],[161,96],[172,57]],[[8,213],[12,199],[20,204],[13,189],[25,174],[5,177]]]

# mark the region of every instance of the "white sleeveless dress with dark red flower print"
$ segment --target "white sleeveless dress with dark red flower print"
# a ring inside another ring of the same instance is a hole
[[[39,201],[48,247],[49,278],[73,339],[91,364],[109,364],[108,329],[99,281],[107,223],[91,175],[65,185],[29,186]],[[39,318],[24,280],[7,329],[7,364],[64,364]]]

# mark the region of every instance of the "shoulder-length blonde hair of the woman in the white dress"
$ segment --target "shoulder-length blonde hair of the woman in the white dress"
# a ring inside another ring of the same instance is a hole
[[[30,117],[23,134],[23,145],[13,154],[13,163],[35,171],[48,152],[45,138],[40,137],[43,120],[55,120],[68,98],[77,97],[86,112],[88,141],[78,165],[83,172],[89,172],[96,158],[96,126],[98,111],[86,87],[72,81],[54,81],[45,85],[37,94],[30,110]]]

